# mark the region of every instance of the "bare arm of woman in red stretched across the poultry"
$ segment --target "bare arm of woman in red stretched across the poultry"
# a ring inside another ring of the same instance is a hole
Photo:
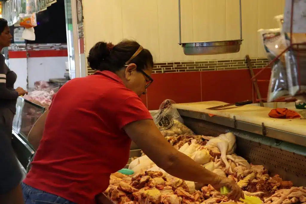
[[[144,153],[160,168],[172,176],[211,184],[214,187],[226,186],[232,189],[231,198],[238,200],[243,192],[239,186],[226,177],[205,169],[187,155],[177,151],[166,141],[153,120],[132,122],[124,127],[125,132],[144,151]]]

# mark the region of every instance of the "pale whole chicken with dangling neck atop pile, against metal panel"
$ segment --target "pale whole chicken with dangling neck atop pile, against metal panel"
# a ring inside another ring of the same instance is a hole
[[[236,147],[236,137],[233,133],[219,135],[216,138],[210,139],[206,145],[212,145],[218,147],[221,152],[222,161],[225,163],[227,170],[230,169],[230,164],[226,159],[226,154],[233,154]]]

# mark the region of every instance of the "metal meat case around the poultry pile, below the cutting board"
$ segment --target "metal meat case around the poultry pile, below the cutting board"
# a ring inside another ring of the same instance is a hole
[[[217,136],[233,132],[236,135],[237,155],[254,165],[263,165],[269,170],[270,175],[278,174],[284,180],[292,181],[294,186],[305,186],[306,128],[304,135],[299,135],[236,120],[235,117],[212,117],[207,113],[179,108],[178,112],[184,124],[195,134]],[[306,125],[306,120],[304,121]],[[132,157],[140,155],[141,150],[134,146],[130,151],[129,162]],[[103,203],[114,204],[104,194],[101,200]]]

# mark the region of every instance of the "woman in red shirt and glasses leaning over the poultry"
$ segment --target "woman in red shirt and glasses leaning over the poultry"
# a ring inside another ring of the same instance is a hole
[[[131,140],[171,175],[227,186],[231,198],[243,197],[233,180],[174,149],[156,127],[140,99],[153,81],[149,50],[129,40],[99,42],[87,59],[98,71],[62,86],[29,134],[38,149],[22,183],[26,204],[95,203],[110,174],[128,162]]]

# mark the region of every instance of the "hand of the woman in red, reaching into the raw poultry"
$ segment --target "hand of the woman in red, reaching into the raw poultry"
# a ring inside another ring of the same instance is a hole
[[[227,195],[228,198],[237,202],[239,198],[244,199],[244,193],[242,189],[236,184],[233,179],[229,179],[223,176],[218,176],[214,182],[211,184],[216,190],[219,190],[221,187],[225,186],[230,189],[230,193]]]

